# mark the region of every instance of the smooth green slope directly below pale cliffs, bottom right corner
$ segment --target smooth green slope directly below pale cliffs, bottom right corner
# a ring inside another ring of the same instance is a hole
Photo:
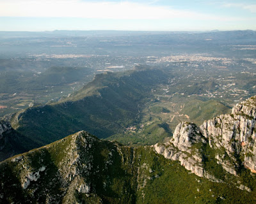
[[[189,174],[177,162],[158,158],[161,175],[148,180],[144,203],[250,203],[249,193]],[[142,203],[142,201],[141,201]]]

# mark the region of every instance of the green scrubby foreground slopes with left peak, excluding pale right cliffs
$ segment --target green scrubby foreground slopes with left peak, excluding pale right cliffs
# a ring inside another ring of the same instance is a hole
[[[205,146],[205,154],[211,159],[212,153],[207,149]],[[0,163],[3,172],[0,175],[1,203],[19,203],[21,198],[40,203],[52,198],[52,203],[255,202],[255,183],[251,179],[248,185],[253,192],[248,193],[238,189],[236,184],[197,177],[178,162],[156,154],[150,147],[120,146],[87,133],[70,135],[18,158],[15,162],[13,157]],[[211,161],[205,160],[205,168],[208,168],[208,162]],[[69,171],[71,168],[76,171]],[[22,189],[22,179],[38,170],[40,177]],[[69,179],[68,172],[76,173]],[[241,177],[248,178],[248,171],[242,172]],[[79,193],[77,189],[84,183],[90,186],[90,191]]]

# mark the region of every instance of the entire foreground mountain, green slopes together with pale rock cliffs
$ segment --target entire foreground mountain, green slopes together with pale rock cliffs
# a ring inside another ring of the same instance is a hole
[[[256,96],[168,143],[128,147],[84,131],[0,163],[1,203],[255,203]]]

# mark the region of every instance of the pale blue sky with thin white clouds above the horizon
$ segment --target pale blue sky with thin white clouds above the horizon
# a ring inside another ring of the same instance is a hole
[[[0,31],[256,30],[255,0],[0,0]]]

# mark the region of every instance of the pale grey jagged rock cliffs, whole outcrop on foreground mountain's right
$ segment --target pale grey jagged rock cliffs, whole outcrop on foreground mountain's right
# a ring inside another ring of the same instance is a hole
[[[170,142],[154,145],[157,153],[180,161],[199,177],[217,182],[207,170],[211,160],[226,173],[237,175],[243,168],[256,173],[256,96],[232,108],[231,114],[207,120],[200,127],[181,122]],[[250,191],[250,189],[248,189]]]

